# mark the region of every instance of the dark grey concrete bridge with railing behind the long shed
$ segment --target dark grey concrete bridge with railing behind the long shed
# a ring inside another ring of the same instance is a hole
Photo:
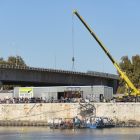
[[[85,86],[105,85],[118,87],[118,76],[88,71],[87,73],[34,67],[0,65],[2,85],[19,86]]]

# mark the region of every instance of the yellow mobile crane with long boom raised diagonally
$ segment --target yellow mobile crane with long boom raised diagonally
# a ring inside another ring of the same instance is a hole
[[[134,84],[130,81],[130,79],[128,78],[128,76],[126,75],[125,72],[123,72],[119,66],[119,64],[114,60],[114,58],[111,56],[111,54],[109,53],[109,51],[106,49],[106,47],[103,45],[103,43],[99,40],[99,38],[96,36],[95,32],[90,28],[90,26],[84,21],[84,19],[79,15],[79,13],[74,10],[73,14],[75,14],[79,20],[84,24],[84,26],[86,27],[86,29],[90,32],[90,34],[92,35],[92,37],[97,41],[97,43],[100,45],[100,47],[103,49],[103,51],[105,52],[105,54],[108,56],[108,58],[111,60],[111,62],[113,63],[113,65],[115,66],[115,68],[117,69],[118,73],[120,74],[120,77],[125,81],[129,92],[126,93],[124,97],[128,97],[128,99],[130,99],[130,97],[132,97],[131,99],[136,99],[137,96],[140,95],[140,91],[134,86]],[[133,98],[134,97],[134,98]]]

